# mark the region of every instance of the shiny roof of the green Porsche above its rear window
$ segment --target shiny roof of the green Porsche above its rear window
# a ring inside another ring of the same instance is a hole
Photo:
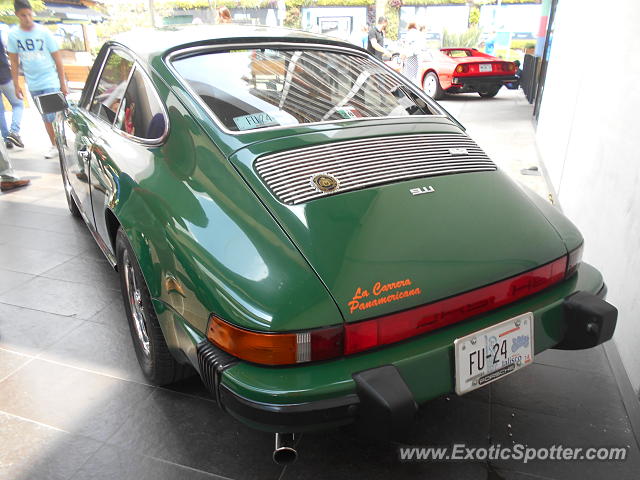
[[[151,62],[154,57],[197,45],[224,45],[232,43],[321,43],[362,49],[337,38],[301,30],[255,25],[188,25],[156,29],[137,29],[116,36],[114,42],[129,48],[139,57]]]

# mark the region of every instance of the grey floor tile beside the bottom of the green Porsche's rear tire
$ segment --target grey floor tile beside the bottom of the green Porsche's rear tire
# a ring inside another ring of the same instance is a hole
[[[117,378],[148,383],[136,358],[129,328],[84,322],[45,350],[41,358]]]

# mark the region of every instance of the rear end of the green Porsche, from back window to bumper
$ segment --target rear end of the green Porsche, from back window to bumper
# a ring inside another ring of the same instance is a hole
[[[312,329],[211,312],[191,335],[220,405],[266,431],[358,421],[394,435],[433,398],[609,339],[616,311],[575,227],[414,87],[326,48],[218,47],[173,63],[336,307]],[[265,72],[245,75],[256,62]]]

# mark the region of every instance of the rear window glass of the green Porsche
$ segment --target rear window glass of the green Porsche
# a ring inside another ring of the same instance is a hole
[[[249,49],[204,53],[173,65],[232,131],[439,114],[386,68],[358,55]]]

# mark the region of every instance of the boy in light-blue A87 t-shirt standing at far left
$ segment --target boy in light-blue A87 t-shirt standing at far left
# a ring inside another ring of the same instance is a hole
[[[22,70],[32,97],[60,91],[67,95],[69,91],[64,77],[62,57],[53,35],[45,27],[33,21],[33,10],[28,0],[15,0],[13,6],[19,24],[9,32],[7,52],[11,60],[11,74],[16,96],[24,97],[18,83],[18,60],[22,63]],[[54,114],[42,116],[51,140],[51,149],[45,154],[45,158],[58,155],[53,134],[54,118]]]

